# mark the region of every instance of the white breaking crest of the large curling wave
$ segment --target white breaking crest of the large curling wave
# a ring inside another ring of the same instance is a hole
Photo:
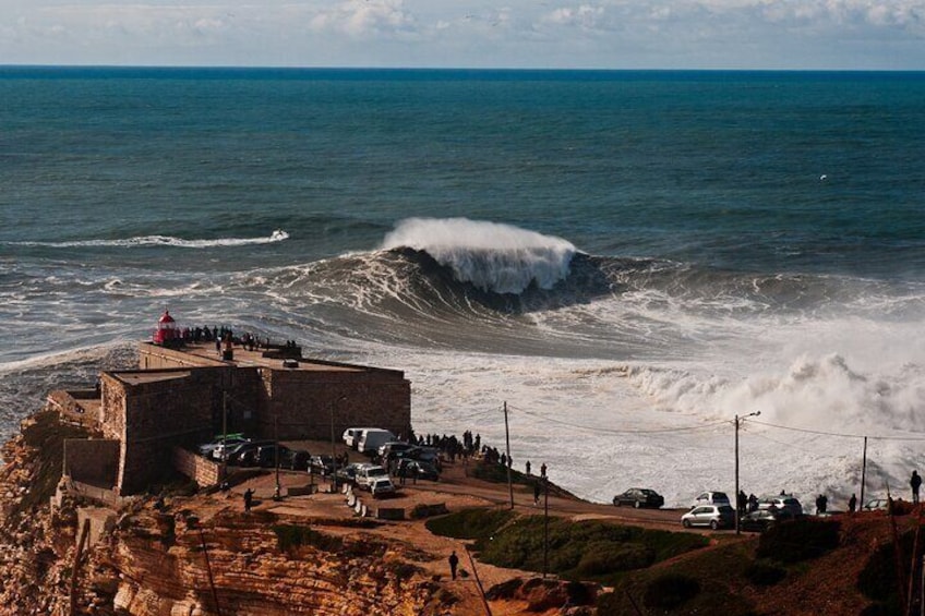
[[[551,289],[568,276],[575,246],[562,238],[466,218],[408,218],[383,240],[384,250],[424,251],[461,282],[483,291]]]

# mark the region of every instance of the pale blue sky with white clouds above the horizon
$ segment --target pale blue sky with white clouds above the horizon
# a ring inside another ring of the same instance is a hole
[[[925,0],[0,0],[0,64],[925,70]]]

